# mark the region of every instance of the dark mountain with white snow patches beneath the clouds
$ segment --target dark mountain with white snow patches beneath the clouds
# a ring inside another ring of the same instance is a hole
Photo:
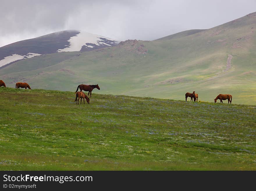
[[[91,51],[117,44],[118,41],[114,39],[84,31],[60,31],[0,47],[0,68],[10,65],[17,60],[32,58],[42,54]]]

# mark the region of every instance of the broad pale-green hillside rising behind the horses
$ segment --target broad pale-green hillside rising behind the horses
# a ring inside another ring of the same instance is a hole
[[[24,81],[32,89],[74,92],[82,83],[99,84],[93,93],[174,100],[193,91],[209,102],[232,94],[232,103],[255,105],[255,28],[252,13],[182,38],[46,54],[0,69],[0,79],[8,87]]]

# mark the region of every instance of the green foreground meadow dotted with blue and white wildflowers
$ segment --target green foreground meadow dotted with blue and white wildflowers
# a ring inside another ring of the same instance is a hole
[[[256,170],[255,106],[96,93],[0,88],[0,170]]]

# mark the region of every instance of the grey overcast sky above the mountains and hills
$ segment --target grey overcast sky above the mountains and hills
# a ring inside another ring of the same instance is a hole
[[[0,47],[75,29],[115,40],[154,40],[256,11],[256,0],[0,0]]]

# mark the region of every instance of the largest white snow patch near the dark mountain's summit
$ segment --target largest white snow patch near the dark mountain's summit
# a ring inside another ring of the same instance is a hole
[[[86,43],[95,44],[96,46],[100,46],[100,45],[104,44],[104,45],[107,45],[107,46],[111,47],[110,44],[106,44],[100,38],[105,38],[107,40],[114,41],[111,38],[107,38],[107,37],[103,37],[103,36],[99,36],[99,35],[95,35],[95,34],[80,31],[80,33],[77,34],[76,36],[70,37],[70,39],[68,40],[68,42],[70,42],[69,47],[66,47],[64,49],[58,49],[57,52],[80,51],[83,46],[86,46],[86,48],[93,48],[93,46],[86,45]],[[113,42],[111,42],[111,44],[113,44]]]

